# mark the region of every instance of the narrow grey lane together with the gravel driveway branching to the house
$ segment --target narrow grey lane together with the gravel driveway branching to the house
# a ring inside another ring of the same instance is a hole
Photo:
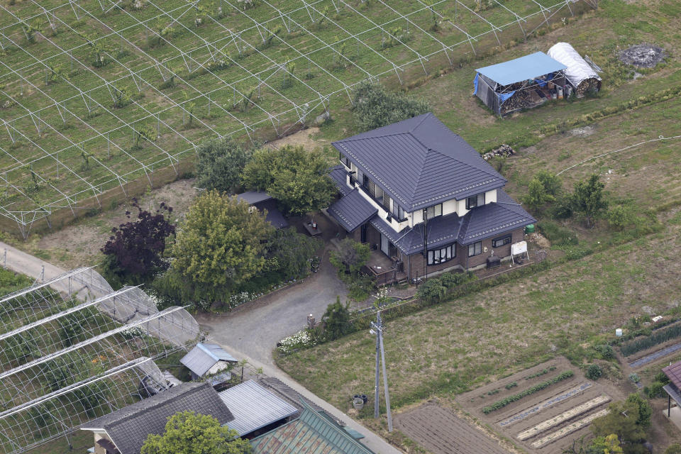
[[[66,272],[60,267],[0,242],[0,260],[3,265],[5,250],[6,267],[28,277],[48,281]],[[201,323],[201,328],[209,331],[211,340],[220,343],[235,358],[244,358],[254,367],[262,367],[265,375],[277,377],[321,406],[328,414],[345,421],[348,427],[362,433],[365,438],[361,441],[367,448],[377,454],[401,454],[402,451],[343,411],[309,392],[272,362],[272,349],[277,341],[304,327],[307,314],[312,313],[319,319],[329,302],[336,301],[336,295],[341,296],[341,301],[345,300],[343,284],[334,273],[333,266],[325,257],[319,272],[301,284],[267,295],[253,301],[253,304],[245,304],[239,311],[234,312],[233,316],[200,316],[197,317],[197,321]],[[55,290],[68,292],[67,288]]]

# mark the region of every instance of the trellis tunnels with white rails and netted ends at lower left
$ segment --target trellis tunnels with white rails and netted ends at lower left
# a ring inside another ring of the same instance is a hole
[[[68,439],[82,423],[143,397],[141,386],[162,392],[169,385],[154,360],[189,350],[200,336],[184,309],[158,311],[139,287],[114,292],[92,268],[33,284],[1,302],[2,454]],[[64,333],[77,326],[82,337],[65,343]],[[30,355],[22,344],[31,345]]]

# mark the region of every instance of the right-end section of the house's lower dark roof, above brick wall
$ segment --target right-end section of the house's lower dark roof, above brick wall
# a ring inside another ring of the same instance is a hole
[[[497,202],[472,209],[463,216],[458,243],[467,245],[536,222],[509,194],[497,189]],[[430,242],[428,242],[430,243]]]

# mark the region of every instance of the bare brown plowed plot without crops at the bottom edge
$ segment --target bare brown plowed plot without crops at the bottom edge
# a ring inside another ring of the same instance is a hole
[[[398,414],[395,426],[433,454],[509,454],[479,428],[435,404]]]

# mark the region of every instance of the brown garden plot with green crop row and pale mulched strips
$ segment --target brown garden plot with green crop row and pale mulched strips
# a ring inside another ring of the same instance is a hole
[[[568,370],[574,375],[567,380],[550,384],[489,414],[482,411],[485,406],[551,380]],[[558,357],[461,394],[456,402],[528,452],[556,453],[572,445],[573,440],[588,436],[591,433],[589,423],[555,441],[541,446],[538,444],[550,434],[567,431],[571,424],[607,409],[609,402],[623,398],[619,384],[605,379],[598,382],[586,380],[578,367]]]

